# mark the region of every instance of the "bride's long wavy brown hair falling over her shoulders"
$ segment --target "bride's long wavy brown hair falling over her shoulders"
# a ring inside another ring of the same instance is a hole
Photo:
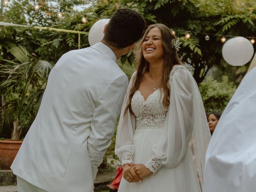
[[[159,28],[162,36],[162,47],[164,50],[164,64],[163,64],[163,74],[162,74],[162,88],[164,92],[164,99],[163,104],[166,108],[168,108],[170,104],[170,88],[169,88],[169,74],[172,70],[172,67],[174,65],[180,65],[182,64],[180,62],[180,59],[178,57],[177,51],[174,46],[172,46],[171,42],[172,39],[176,40],[176,37],[172,33],[172,30],[170,30],[167,26],[164,24],[152,24],[148,26],[146,29],[142,39],[136,44],[134,48],[134,56],[135,56],[135,65],[136,65],[136,76],[134,78],[134,81],[132,82],[132,88],[130,90],[130,95],[128,99],[128,105],[125,109],[124,114],[130,110],[130,113],[134,116],[134,112],[132,111],[131,102],[132,102],[132,96],[134,93],[138,90],[140,86],[140,81],[142,79],[142,76],[144,72],[149,72],[149,62],[144,58],[142,54],[142,43],[144,42],[144,39],[146,38],[148,32],[152,28]]]

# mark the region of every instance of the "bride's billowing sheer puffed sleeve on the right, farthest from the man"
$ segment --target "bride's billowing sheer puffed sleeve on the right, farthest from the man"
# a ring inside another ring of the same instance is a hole
[[[195,126],[197,126],[196,134],[198,130],[204,129],[200,136],[192,137],[195,153],[204,156],[210,141],[210,131],[202,98],[196,81],[188,69],[185,66],[176,65],[170,73],[170,106],[164,129],[160,141],[152,148],[154,155],[145,166],[155,173],[161,166],[173,168],[178,165],[187,152]],[[206,145],[204,150],[198,150],[198,143]],[[197,161],[200,163],[200,172],[202,172],[204,162],[201,161],[204,161],[204,158],[200,159],[198,156]]]

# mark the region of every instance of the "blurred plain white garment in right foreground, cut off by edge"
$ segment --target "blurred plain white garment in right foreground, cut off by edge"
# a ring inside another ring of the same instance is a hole
[[[256,191],[256,67],[226,106],[212,136],[205,192]]]

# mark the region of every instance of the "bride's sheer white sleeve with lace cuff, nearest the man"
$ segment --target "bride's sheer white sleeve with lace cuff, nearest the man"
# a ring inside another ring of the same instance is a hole
[[[124,102],[122,104],[116,133],[115,154],[121,160],[122,165],[132,163],[132,156],[134,154],[133,133],[135,130],[136,118],[130,114],[129,110],[124,115],[124,111],[128,105],[130,89],[132,87],[135,75],[136,72],[132,74],[126,95],[124,96]]]

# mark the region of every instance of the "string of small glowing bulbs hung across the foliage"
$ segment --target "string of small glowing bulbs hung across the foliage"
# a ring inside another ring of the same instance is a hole
[[[82,15],[83,17],[81,18],[81,21],[82,21],[84,24],[86,24],[86,23],[88,22],[88,21],[87,21],[87,18],[86,18],[86,16],[87,16],[86,14],[81,14],[81,13],[74,12],[74,11],[70,11],[70,10],[64,10],[64,11],[63,11],[63,10],[58,9],[58,8],[56,8],[56,7],[47,6],[47,5],[43,5],[43,4],[35,4],[34,2],[29,2],[29,1],[26,1],[26,0],[23,0],[23,2],[27,2],[27,3],[30,3],[30,4],[34,4],[34,9],[35,9],[36,11],[38,11],[42,6],[47,7],[47,8],[52,8],[52,9],[59,10],[59,11],[57,12],[57,17],[58,17],[59,19],[61,19],[61,18],[63,17],[63,12],[70,12],[70,13]],[[9,4],[9,1],[8,1],[8,0],[4,0],[4,1],[3,1],[3,4],[4,4],[4,6],[7,6],[7,5]],[[93,16],[93,15],[89,15],[89,16],[96,17],[96,16]],[[96,17],[96,18],[98,18],[98,17]],[[198,33],[198,34],[204,34],[204,35],[206,35],[206,36],[205,36],[205,40],[206,40],[206,41],[210,40],[210,36],[209,36],[209,35],[212,35],[212,36],[221,36],[220,41],[221,41],[222,43],[226,42],[226,37],[236,37],[236,36],[232,36],[232,35],[220,35],[220,34],[212,34],[212,33],[194,32],[194,31],[188,31],[188,30],[172,29],[172,33],[173,33],[174,35],[176,34],[175,31],[188,32],[188,33],[185,35],[185,37],[186,37],[187,39],[189,39],[189,38],[191,37],[191,34],[192,34],[192,33]],[[251,42],[252,44],[255,43],[256,37],[246,37],[246,36],[244,36],[244,38],[250,39],[250,42]]]

